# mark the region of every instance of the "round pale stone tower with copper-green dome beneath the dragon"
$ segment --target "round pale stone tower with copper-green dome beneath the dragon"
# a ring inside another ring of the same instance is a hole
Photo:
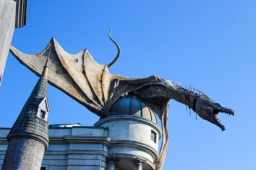
[[[154,170],[162,136],[154,112],[132,92],[118,99],[110,112],[120,115],[108,116],[94,124],[108,129],[107,136],[111,139],[106,170]]]

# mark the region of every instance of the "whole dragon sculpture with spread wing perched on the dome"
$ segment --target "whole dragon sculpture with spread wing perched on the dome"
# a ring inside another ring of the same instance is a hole
[[[111,30],[110,30],[111,33]],[[24,66],[29,68],[37,76],[41,75],[45,60],[49,54],[48,83],[85,106],[89,111],[105,118],[117,113],[111,113],[110,108],[118,98],[125,97],[132,92],[136,98],[143,101],[158,115],[162,123],[163,141],[156,162],[156,170],[161,170],[165,161],[168,137],[168,109],[170,99],[192,108],[202,119],[216,124],[221,130],[225,127],[218,119],[218,113],[234,115],[234,111],[224,107],[207,95],[199,91],[195,93],[189,88],[183,88],[180,84],[171,83],[169,80],[150,76],[148,78],[128,78],[120,75],[112,75],[108,68],[120,56],[120,47],[116,44],[118,54],[109,65],[100,65],[87,49],[78,54],[69,54],[54,39],[50,40],[45,49],[37,55],[27,55],[16,48],[10,48],[10,52]]]

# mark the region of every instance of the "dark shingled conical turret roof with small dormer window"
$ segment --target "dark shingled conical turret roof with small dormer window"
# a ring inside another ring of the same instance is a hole
[[[13,137],[26,136],[43,142],[45,149],[49,147],[49,104],[46,77],[48,72],[48,62],[49,56],[42,75],[7,136],[8,141]]]

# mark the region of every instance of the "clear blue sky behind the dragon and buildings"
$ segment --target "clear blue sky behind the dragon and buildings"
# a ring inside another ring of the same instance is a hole
[[[15,29],[12,46],[38,54],[54,36],[65,51],[87,48],[99,64],[109,64],[117,54],[110,28],[121,47],[111,74],[191,83],[235,111],[218,115],[221,131],[172,100],[163,170],[256,169],[256,1],[29,0],[27,25]],[[9,53],[0,127],[12,127],[37,80]],[[48,99],[49,124],[93,126],[99,119],[50,85]]]

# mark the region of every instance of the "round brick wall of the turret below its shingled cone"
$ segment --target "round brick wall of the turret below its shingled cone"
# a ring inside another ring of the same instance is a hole
[[[32,138],[10,139],[2,170],[40,170],[45,146]]]

